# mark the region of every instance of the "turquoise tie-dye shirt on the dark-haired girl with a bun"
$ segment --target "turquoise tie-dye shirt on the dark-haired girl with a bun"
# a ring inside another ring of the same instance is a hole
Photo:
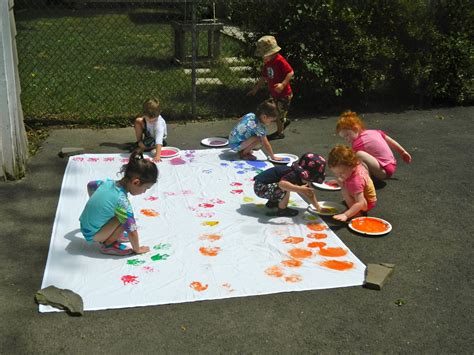
[[[91,242],[95,234],[112,218],[117,218],[126,232],[137,230],[127,191],[114,180],[94,180],[87,184],[92,196],[87,201],[79,221],[81,232]]]

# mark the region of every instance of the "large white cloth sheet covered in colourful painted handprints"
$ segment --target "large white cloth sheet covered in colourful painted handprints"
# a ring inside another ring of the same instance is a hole
[[[305,212],[298,195],[290,201],[300,209],[297,217],[269,215],[252,178],[272,164],[233,161],[228,149],[181,151],[159,163],[158,183],[130,197],[141,244],[151,251],[99,253],[79,231],[86,184],[118,179],[127,158],[69,159],[42,287],[73,290],[85,310],[98,310],[363,284],[365,265],[323,220]]]

